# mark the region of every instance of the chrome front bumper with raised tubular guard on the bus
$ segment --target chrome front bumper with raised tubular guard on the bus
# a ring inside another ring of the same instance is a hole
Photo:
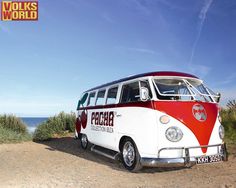
[[[207,146],[194,146],[194,147],[171,147],[171,148],[162,148],[158,151],[157,158],[141,158],[140,162],[142,166],[149,167],[191,167],[197,164],[197,157],[192,157],[189,155],[190,149],[196,148],[209,148],[209,147],[217,147],[218,155],[222,158],[222,161],[227,161],[227,150],[226,144],[216,144],[216,145],[207,145]],[[159,158],[160,153],[164,150],[179,150],[182,149],[184,152],[184,157],[179,158]]]

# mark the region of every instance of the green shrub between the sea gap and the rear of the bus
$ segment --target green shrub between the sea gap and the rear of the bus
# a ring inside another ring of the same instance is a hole
[[[75,113],[66,114],[61,112],[40,124],[34,132],[33,140],[49,140],[52,137],[64,135],[66,132],[73,132],[75,130],[75,121]]]

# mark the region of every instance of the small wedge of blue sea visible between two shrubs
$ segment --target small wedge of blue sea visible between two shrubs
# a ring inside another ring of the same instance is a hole
[[[33,133],[36,127],[47,121],[47,117],[21,117],[22,121],[27,125],[27,128],[30,133]]]

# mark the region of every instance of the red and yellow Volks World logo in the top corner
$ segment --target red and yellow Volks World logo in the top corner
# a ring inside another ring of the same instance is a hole
[[[36,21],[38,20],[37,1],[2,1],[2,21]]]

